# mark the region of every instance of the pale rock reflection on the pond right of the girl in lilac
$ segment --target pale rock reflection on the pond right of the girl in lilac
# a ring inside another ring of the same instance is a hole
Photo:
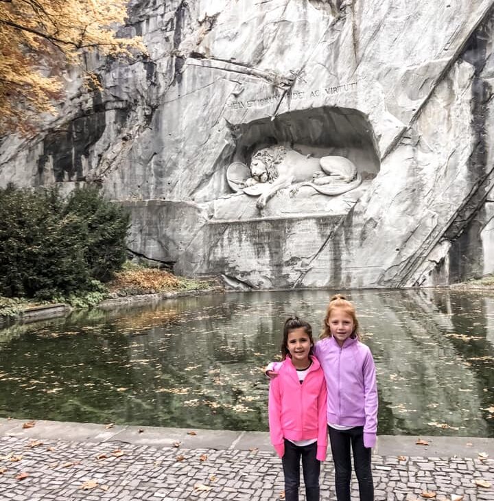
[[[438,311],[440,297],[403,292],[356,294],[352,299],[365,312],[362,328],[369,333],[366,342],[377,363],[381,400],[388,404],[383,416],[392,421],[386,426],[430,434],[450,430],[446,433],[460,436],[474,426],[487,436],[489,427],[481,411],[484,394],[467,357],[468,343],[460,341],[457,349],[454,338],[447,337],[454,325],[451,315]]]

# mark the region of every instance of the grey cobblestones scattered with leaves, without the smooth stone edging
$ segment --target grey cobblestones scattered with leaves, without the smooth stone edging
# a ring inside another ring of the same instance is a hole
[[[375,455],[373,474],[377,501],[425,500],[426,492],[435,493],[435,500],[494,500],[491,458]],[[491,487],[481,487],[475,483],[479,481]],[[352,489],[358,500],[355,482]],[[282,493],[281,461],[272,452],[0,439],[2,501],[268,501]],[[322,468],[321,500],[334,499],[329,457]]]

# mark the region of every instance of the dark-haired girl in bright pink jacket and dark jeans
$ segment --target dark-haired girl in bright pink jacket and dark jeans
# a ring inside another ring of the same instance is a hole
[[[270,382],[269,426],[285,475],[285,500],[298,501],[302,459],[307,501],[319,501],[320,461],[327,449],[326,384],[312,355],[309,323],[288,318],[283,327],[278,377]]]

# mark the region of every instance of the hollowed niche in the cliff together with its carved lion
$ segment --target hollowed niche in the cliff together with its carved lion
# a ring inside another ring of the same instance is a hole
[[[246,199],[256,198],[261,211],[246,211],[244,218],[246,213],[344,213],[347,202],[360,198],[379,172],[372,126],[358,110],[295,110],[235,126],[231,132],[235,150],[226,169],[228,186]],[[248,205],[252,201],[243,206]]]

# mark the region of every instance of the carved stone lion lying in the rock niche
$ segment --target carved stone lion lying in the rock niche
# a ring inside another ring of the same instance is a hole
[[[320,194],[337,196],[362,183],[357,167],[344,156],[319,159],[283,145],[261,148],[252,156],[250,167],[242,162],[231,163],[226,179],[233,191],[259,196],[258,209],[266,207],[268,200],[283,188],[291,187],[290,194],[293,194],[309,186]]]

